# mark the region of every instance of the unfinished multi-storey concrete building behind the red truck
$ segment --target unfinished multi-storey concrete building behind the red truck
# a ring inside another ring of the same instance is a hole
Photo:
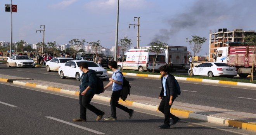
[[[209,61],[213,62],[213,54],[215,54],[218,47],[227,46],[227,42],[243,42],[247,35],[256,34],[254,30],[243,31],[243,29],[234,29],[229,31],[227,29],[218,29],[218,32],[210,30],[209,34]]]

